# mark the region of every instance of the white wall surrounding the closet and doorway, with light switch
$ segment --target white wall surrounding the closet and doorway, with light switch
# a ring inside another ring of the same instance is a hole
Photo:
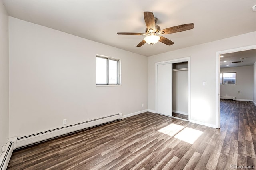
[[[191,57],[190,121],[216,127],[216,52],[255,44],[256,32],[250,32],[148,57],[148,109],[156,110],[155,63]],[[202,86],[203,81],[206,82],[206,86]]]

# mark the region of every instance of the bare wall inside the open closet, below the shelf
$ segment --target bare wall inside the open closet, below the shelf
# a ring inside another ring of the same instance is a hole
[[[172,111],[188,115],[188,70],[172,71]]]

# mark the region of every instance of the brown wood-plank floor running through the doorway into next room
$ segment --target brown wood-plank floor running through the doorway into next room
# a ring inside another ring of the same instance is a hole
[[[256,107],[221,100],[220,109],[220,129],[147,112],[15,150],[8,170],[255,169]]]

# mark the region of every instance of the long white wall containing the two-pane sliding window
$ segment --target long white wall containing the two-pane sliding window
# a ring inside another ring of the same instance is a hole
[[[72,125],[148,108],[147,57],[12,17],[9,23],[10,137],[62,127],[63,119]],[[97,54],[121,59],[121,86],[96,87]]]

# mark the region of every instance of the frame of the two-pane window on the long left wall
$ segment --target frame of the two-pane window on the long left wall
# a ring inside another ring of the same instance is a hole
[[[106,84],[97,84],[96,82],[96,86],[120,86],[121,85],[121,60],[120,59],[116,59],[116,58],[111,58],[111,57],[106,57],[106,56],[103,56],[103,55],[96,55],[96,59],[97,57],[99,58],[104,58],[104,59],[107,59],[107,69],[106,69],[106,74],[107,74],[107,83]],[[116,75],[116,78],[117,78],[117,84],[110,84],[109,83],[109,60],[113,60],[113,61],[117,61],[117,75]],[[96,63],[96,67],[97,67],[97,63]]]

